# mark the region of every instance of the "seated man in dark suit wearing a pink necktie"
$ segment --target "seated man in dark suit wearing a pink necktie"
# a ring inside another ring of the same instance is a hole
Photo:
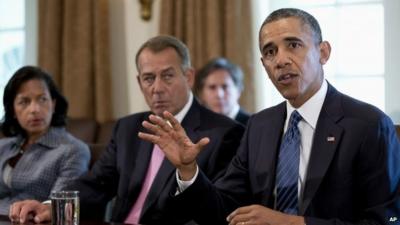
[[[151,142],[138,138],[138,132],[146,131],[142,122],[150,115],[161,118],[169,111],[191,140],[209,136],[211,144],[199,154],[198,164],[210,180],[224,174],[244,128],[200,106],[193,98],[194,70],[189,52],[176,38],[157,36],[148,40],[136,55],[136,65],[137,80],[151,112],[120,119],[106,152],[88,174],[66,189],[80,192],[82,219],[103,219],[107,202],[115,196],[113,222],[182,224],[190,218],[165,208],[168,191],[176,182],[175,167]],[[150,178],[150,174],[155,175]],[[34,201],[15,203],[10,218],[26,220],[28,214],[34,215],[35,222],[50,219],[49,207]]]

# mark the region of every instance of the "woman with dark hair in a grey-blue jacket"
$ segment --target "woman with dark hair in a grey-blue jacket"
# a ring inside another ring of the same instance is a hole
[[[65,130],[68,103],[51,76],[25,66],[8,81],[0,139],[0,215],[15,201],[49,198],[88,168],[89,148]]]

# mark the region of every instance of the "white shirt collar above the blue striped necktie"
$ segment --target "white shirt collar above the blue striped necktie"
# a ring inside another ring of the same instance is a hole
[[[286,101],[287,115],[291,115],[294,110],[297,110],[304,121],[308,123],[313,129],[317,126],[319,113],[321,112],[322,105],[328,91],[328,84],[326,80],[322,82],[321,88],[315,93],[308,101],[306,101],[299,108],[294,108],[290,105],[289,101]],[[288,122],[289,116],[286,117],[286,123]]]

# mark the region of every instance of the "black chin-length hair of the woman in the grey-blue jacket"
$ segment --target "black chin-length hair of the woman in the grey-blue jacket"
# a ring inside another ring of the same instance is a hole
[[[1,124],[1,131],[5,136],[26,135],[15,116],[14,100],[20,87],[30,80],[43,81],[50,92],[52,100],[56,100],[56,107],[50,125],[57,127],[65,126],[66,124],[68,102],[58,90],[51,75],[39,67],[24,66],[14,73],[4,88],[4,117]]]

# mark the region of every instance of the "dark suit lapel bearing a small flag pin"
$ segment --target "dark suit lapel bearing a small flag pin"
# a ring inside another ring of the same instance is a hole
[[[343,129],[337,122],[343,117],[340,94],[331,85],[318,118],[311,148],[303,201],[299,215],[303,215],[320,186],[329,165],[339,147]]]

